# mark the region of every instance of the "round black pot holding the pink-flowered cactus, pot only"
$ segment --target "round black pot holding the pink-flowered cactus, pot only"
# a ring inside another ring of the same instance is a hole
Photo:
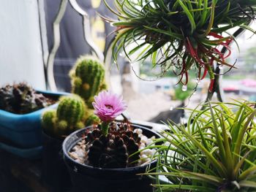
[[[142,126],[133,126],[143,129],[147,137],[159,137],[159,134]],[[91,128],[91,126],[87,127]],[[145,166],[135,166],[124,169],[102,169],[80,164],[68,155],[69,151],[82,139],[86,128],[75,131],[64,140],[64,161],[71,175],[74,191],[84,192],[151,192],[152,180],[149,177],[138,175],[146,172]],[[151,168],[156,166],[157,161],[151,162]]]

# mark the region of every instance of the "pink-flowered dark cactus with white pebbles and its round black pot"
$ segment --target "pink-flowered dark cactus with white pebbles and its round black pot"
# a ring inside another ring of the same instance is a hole
[[[120,96],[102,91],[94,97],[101,122],[70,134],[64,140],[64,161],[76,191],[152,191],[151,180],[138,176],[151,164],[154,149],[143,150],[159,137],[148,128],[116,122],[127,105]],[[140,152],[140,151],[143,152]]]

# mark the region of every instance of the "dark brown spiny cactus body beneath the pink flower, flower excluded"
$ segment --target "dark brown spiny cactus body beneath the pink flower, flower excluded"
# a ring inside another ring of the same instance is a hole
[[[89,144],[88,161],[91,166],[102,168],[124,168],[134,166],[140,158],[138,152],[140,137],[132,132],[127,123],[111,123],[107,136],[102,135],[100,128],[86,134]]]

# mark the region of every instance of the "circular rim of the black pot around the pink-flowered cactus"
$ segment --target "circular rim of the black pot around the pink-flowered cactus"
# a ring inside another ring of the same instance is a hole
[[[156,136],[156,137],[158,137],[158,138],[161,137],[160,134],[157,133],[157,131],[153,131],[153,130],[151,130],[151,128],[146,128],[146,127],[144,127],[144,126],[140,126],[140,125],[133,124],[133,123],[131,123],[131,125],[132,125],[132,126],[135,126],[136,128],[146,129],[147,131],[150,131],[152,134],[154,134],[154,136]],[[62,150],[63,150],[64,160],[65,160],[65,158],[68,158],[69,161],[72,161],[74,164],[79,164],[80,166],[84,166],[84,167],[86,167],[86,169],[91,169],[91,170],[95,170],[95,169],[96,169],[96,170],[99,170],[99,171],[104,170],[104,171],[111,171],[111,172],[119,172],[119,171],[122,171],[122,172],[124,172],[124,171],[129,172],[129,171],[134,170],[134,169],[143,169],[143,168],[146,168],[146,166],[149,166],[149,165],[151,165],[151,164],[157,163],[157,159],[155,159],[154,161],[151,161],[150,163],[145,164],[145,165],[143,165],[143,166],[131,166],[131,167],[125,167],[125,168],[113,168],[113,169],[110,169],[110,168],[101,168],[101,167],[89,166],[89,165],[87,165],[87,164],[81,164],[80,162],[75,161],[73,158],[71,158],[71,157],[69,156],[68,151],[67,151],[67,149],[66,149],[66,147],[65,147],[65,146],[67,145],[67,141],[69,140],[70,137],[72,137],[73,135],[76,135],[78,132],[84,131],[84,130],[86,130],[86,128],[91,128],[91,127],[92,127],[92,126],[86,126],[85,128],[81,128],[81,129],[79,129],[79,130],[77,130],[77,131],[74,131],[72,134],[69,134],[69,136],[66,137],[66,139],[64,139],[64,142],[63,142],[63,144],[62,144]],[[80,138],[79,138],[79,139],[80,139]],[[79,140],[79,139],[78,139],[78,140]]]

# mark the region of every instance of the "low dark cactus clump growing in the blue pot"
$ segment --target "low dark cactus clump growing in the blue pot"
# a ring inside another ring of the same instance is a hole
[[[0,89],[0,109],[18,114],[25,114],[47,107],[53,101],[36,93],[25,82],[6,85]]]

